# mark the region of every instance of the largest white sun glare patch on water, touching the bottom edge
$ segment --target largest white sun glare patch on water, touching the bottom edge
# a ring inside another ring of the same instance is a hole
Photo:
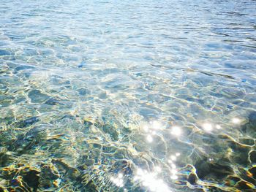
[[[156,166],[154,169],[161,169]],[[161,170],[160,170],[161,171]],[[138,169],[134,180],[139,180],[141,184],[153,192],[171,192],[168,185],[162,179],[159,179],[157,172],[147,172],[146,170]]]

